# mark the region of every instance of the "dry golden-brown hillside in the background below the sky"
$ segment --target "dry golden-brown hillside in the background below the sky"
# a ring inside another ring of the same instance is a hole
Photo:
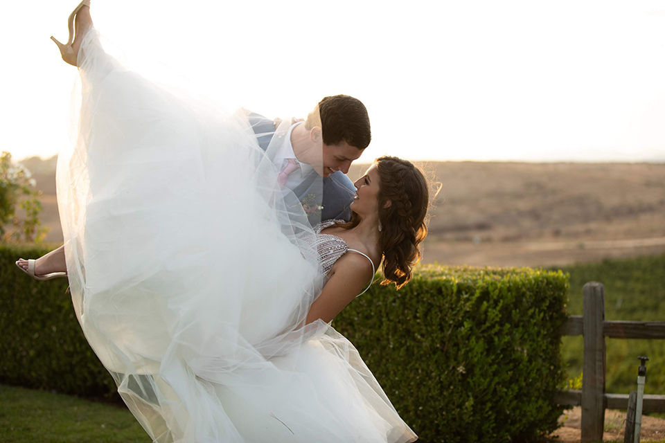
[[[25,161],[44,192],[49,242],[62,242],[55,162]],[[421,164],[441,182],[424,261],[549,266],[665,252],[665,164]],[[355,180],[367,165],[353,165]]]

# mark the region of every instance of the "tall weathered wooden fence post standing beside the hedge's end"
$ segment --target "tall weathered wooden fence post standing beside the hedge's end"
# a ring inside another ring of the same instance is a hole
[[[582,376],[582,442],[603,441],[605,424],[605,287],[589,282],[583,289],[584,362]]]

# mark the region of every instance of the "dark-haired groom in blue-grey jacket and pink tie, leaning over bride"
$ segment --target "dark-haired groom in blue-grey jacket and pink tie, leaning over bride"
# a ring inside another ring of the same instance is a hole
[[[348,206],[355,186],[345,174],[371,140],[369,116],[360,100],[325,97],[304,122],[276,124],[252,112],[247,118],[278,170],[278,181],[294,192],[305,211],[312,215],[311,207],[323,206],[321,220],[351,219]]]

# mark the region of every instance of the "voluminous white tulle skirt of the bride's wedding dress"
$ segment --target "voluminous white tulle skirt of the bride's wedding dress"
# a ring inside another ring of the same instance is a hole
[[[303,327],[318,233],[244,114],[127,71],[96,30],[78,61],[57,167],[73,304],[154,442],[416,440],[355,347]]]

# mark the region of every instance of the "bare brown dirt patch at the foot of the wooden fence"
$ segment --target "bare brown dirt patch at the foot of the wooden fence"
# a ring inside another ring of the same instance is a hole
[[[623,431],[626,428],[626,411],[605,410],[605,428],[603,442],[623,442]],[[575,406],[567,410],[559,418],[562,423],[555,433],[549,435],[546,442],[578,443],[581,439],[580,425],[582,422],[582,408]],[[641,442],[659,442],[665,438],[665,419],[642,417],[640,433]]]

